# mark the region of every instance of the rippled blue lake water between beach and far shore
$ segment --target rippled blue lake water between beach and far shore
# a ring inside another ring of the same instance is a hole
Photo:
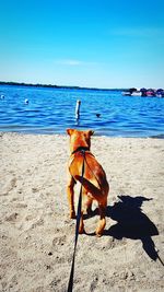
[[[1,95],[0,131],[66,133],[67,128],[79,128],[113,137],[164,138],[164,98],[122,96],[120,91],[12,85],[0,85]],[[81,100],[79,121],[77,100]]]

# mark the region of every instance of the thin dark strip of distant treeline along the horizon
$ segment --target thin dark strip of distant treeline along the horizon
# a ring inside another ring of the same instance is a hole
[[[16,86],[32,86],[32,87],[52,87],[52,89],[63,89],[63,90],[96,90],[96,91],[120,91],[125,89],[96,89],[96,87],[81,87],[81,86],[67,86],[67,85],[52,85],[52,84],[32,84],[24,82],[5,82],[0,81],[0,85],[16,85]]]

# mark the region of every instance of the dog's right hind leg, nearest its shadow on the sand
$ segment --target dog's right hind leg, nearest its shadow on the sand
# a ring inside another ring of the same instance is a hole
[[[98,221],[98,225],[96,227],[96,235],[97,236],[102,236],[103,235],[103,231],[105,229],[106,225],[106,206],[107,206],[107,200],[105,199],[103,202],[98,203],[98,211],[99,211],[99,221]]]

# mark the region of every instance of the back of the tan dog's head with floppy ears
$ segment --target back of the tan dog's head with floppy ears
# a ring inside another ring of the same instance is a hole
[[[87,131],[79,131],[75,129],[67,129],[67,133],[70,136],[70,150],[71,152],[75,151],[77,149],[84,147],[91,147],[91,136],[94,133],[92,130]]]

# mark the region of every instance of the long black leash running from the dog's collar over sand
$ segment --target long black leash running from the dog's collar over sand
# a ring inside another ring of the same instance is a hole
[[[82,165],[82,182],[84,176],[84,160],[85,160],[85,150],[80,151],[83,155],[83,165]],[[80,188],[80,195],[79,195],[79,202],[78,202],[78,212],[77,212],[77,225],[75,225],[75,240],[74,240],[74,252],[73,252],[73,259],[72,259],[72,267],[70,272],[70,279],[68,284],[68,292],[72,292],[73,289],[73,276],[74,276],[74,261],[75,261],[75,250],[77,250],[77,243],[78,243],[78,236],[79,236],[79,226],[80,226],[80,219],[81,219],[81,206],[82,206],[82,183]]]

